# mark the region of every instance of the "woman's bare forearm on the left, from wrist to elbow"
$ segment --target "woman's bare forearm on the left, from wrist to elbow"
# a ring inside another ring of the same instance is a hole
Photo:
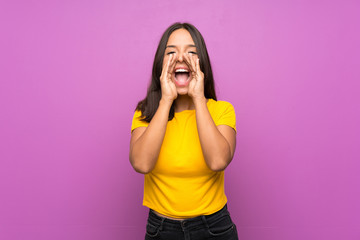
[[[159,107],[145,132],[130,149],[130,162],[134,169],[149,173],[155,167],[165,136],[171,102],[160,100]]]

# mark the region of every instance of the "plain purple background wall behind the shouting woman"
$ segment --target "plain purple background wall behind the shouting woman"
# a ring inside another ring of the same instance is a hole
[[[0,239],[143,239],[130,125],[164,30],[237,114],[240,239],[360,239],[358,1],[1,1]]]

